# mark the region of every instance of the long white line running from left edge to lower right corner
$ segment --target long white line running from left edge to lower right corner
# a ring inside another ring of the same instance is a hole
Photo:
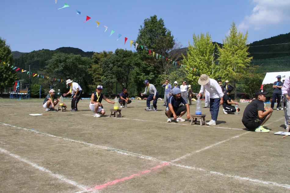
[[[220,173],[220,172],[206,170],[206,169],[203,169],[203,168],[196,168],[196,167],[193,167],[193,166],[184,166],[184,165],[181,165],[181,164],[173,163],[172,161],[168,162],[168,161],[164,161],[164,160],[159,160],[157,158],[153,158],[153,157],[149,157],[149,156],[141,155],[141,154],[137,154],[137,153],[132,153],[132,152],[128,152],[128,151],[124,151],[124,150],[120,150],[120,149],[109,148],[109,147],[104,147],[104,146],[100,146],[100,145],[90,144],[90,143],[86,143],[86,142],[82,142],[82,141],[76,141],[76,140],[73,140],[73,139],[62,138],[62,137],[59,137],[59,136],[46,134],[46,133],[43,133],[43,132],[40,132],[40,131],[36,131],[36,130],[31,130],[31,129],[26,129],[26,128],[23,128],[23,127],[17,127],[17,126],[9,125],[9,124],[6,124],[6,123],[0,123],[0,124],[6,125],[6,126],[10,126],[10,127],[14,127],[14,128],[18,128],[18,129],[24,129],[26,131],[36,132],[36,133],[39,133],[39,134],[48,135],[50,137],[56,137],[56,138],[60,138],[60,139],[74,141],[74,142],[81,143],[81,144],[96,146],[96,147],[107,149],[107,150],[113,150],[114,152],[121,153],[123,155],[136,156],[136,157],[139,157],[141,159],[147,159],[147,160],[157,161],[157,162],[161,162],[161,163],[162,162],[167,162],[167,163],[170,163],[173,166],[178,166],[178,167],[182,167],[182,168],[193,169],[193,170],[198,170],[198,171],[204,171],[204,172],[207,172],[207,173],[211,173],[211,174],[219,175],[219,176],[223,176],[223,177],[236,178],[236,179],[239,179],[239,180],[246,180],[246,181],[251,181],[251,182],[256,182],[256,183],[266,184],[266,185],[281,186],[281,187],[290,189],[290,185],[289,184],[278,184],[276,182],[256,180],[256,179],[251,179],[251,178],[248,178],[248,177],[232,176],[232,175],[229,175],[229,174],[223,174],[223,173]],[[244,133],[244,134],[246,134],[246,133]],[[85,192],[85,190],[81,191],[81,192]]]

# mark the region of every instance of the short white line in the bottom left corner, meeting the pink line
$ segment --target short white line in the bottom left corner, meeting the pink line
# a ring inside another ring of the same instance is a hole
[[[85,187],[84,185],[78,184],[77,182],[75,182],[75,181],[73,181],[73,180],[69,180],[69,179],[67,179],[66,177],[62,176],[62,175],[55,174],[55,173],[53,173],[52,171],[50,171],[50,170],[48,170],[48,169],[46,169],[46,168],[44,168],[44,167],[42,167],[42,166],[38,166],[37,164],[32,163],[32,162],[28,161],[27,159],[21,158],[19,155],[15,155],[15,154],[13,154],[13,153],[10,153],[10,152],[8,152],[8,151],[5,150],[5,149],[0,148],[0,152],[2,152],[2,153],[6,153],[6,154],[8,154],[8,155],[10,155],[10,156],[12,156],[12,157],[14,157],[14,158],[17,158],[17,159],[19,159],[20,161],[25,162],[25,163],[31,165],[32,167],[37,168],[37,169],[40,170],[40,171],[43,171],[43,172],[49,173],[51,176],[56,177],[56,178],[58,178],[59,180],[62,180],[62,181],[64,181],[64,182],[68,183],[68,184],[71,184],[71,185],[73,185],[73,186],[75,186],[75,187],[77,187],[77,188],[79,188],[79,189],[82,189],[83,191],[85,191],[85,190],[88,189],[88,188]]]

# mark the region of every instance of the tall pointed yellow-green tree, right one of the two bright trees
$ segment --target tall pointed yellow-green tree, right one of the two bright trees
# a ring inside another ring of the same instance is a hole
[[[222,48],[218,47],[220,67],[218,75],[224,80],[232,80],[234,98],[237,98],[236,83],[242,79],[252,59],[252,57],[248,57],[247,38],[248,32],[245,35],[237,32],[237,27],[233,22],[229,36],[223,40]]]

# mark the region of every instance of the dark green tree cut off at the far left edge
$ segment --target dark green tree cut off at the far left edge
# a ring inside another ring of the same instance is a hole
[[[8,64],[13,65],[13,57],[9,45],[6,45],[6,40],[0,38],[0,92],[5,87],[12,86],[14,80],[18,79],[17,73],[12,70]]]

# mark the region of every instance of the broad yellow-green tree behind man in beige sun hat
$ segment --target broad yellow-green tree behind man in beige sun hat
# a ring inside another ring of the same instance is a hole
[[[200,36],[193,34],[193,44],[189,43],[187,57],[183,55],[187,80],[196,84],[201,74],[207,74],[209,77],[215,78],[214,49],[215,45],[213,45],[212,38],[208,33],[201,33]]]

